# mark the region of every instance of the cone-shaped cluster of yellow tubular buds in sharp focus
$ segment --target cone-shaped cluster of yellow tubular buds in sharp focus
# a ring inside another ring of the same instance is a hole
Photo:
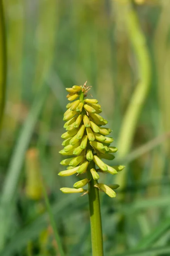
[[[67,111],[64,113],[63,120],[66,121],[64,128],[66,132],[62,134],[64,148],[59,151],[64,156],[70,156],[61,161],[60,164],[68,166],[65,171],[59,172],[60,176],[70,176],[83,174],[87,169],[91,173],[91,178],[99,179],[99,172],[117,174],[125,166],[108,166],[102,159],[113,160],[117,148],[110,146],[113,142],[112,137],[106,137],[111,133],[111,129],[102,127],[108,123],[99,113],[102,112],[101,106],[96,99],[86,99],[86,94],[90,87],[74,85],[66,88]],[[90,162],[94,162],[94,168],[89,168]],[[96,166],[96,167],[95,167]],[[85,178],[74,183],[74,188],[61,188],[63,193],[88,193],[83,189],[90,179]],[[118,185],[107,186],[96,183],[95,187],[105,192],[110,197],[115,197]],[[113,188],[113,189],[112,189]]]

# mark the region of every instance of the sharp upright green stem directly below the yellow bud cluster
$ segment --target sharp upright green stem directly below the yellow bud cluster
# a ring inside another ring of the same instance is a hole
[[[90,163],[88,168],[88,178],[91,181],[88,183],[88,200],[90,210],[91,221],[91,244],[93,256],[103,256],[103,239],[102,239],[102,221],[100,213],[100,200],[99,189],[94,187],[97,184],[97,180],[94,180],[91,176],[90,168],[94,168],[94,163]]]

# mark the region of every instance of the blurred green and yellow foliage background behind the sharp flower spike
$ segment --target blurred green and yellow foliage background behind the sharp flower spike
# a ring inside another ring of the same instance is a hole
[[[126,165],[101,178],[120,185],[105,256],[170,255],[170,0],[1,0],[0,256],[59,256],[42,180],[65,255],[91,256],[88,197],[57,176],[65,87],[86,80]]]

